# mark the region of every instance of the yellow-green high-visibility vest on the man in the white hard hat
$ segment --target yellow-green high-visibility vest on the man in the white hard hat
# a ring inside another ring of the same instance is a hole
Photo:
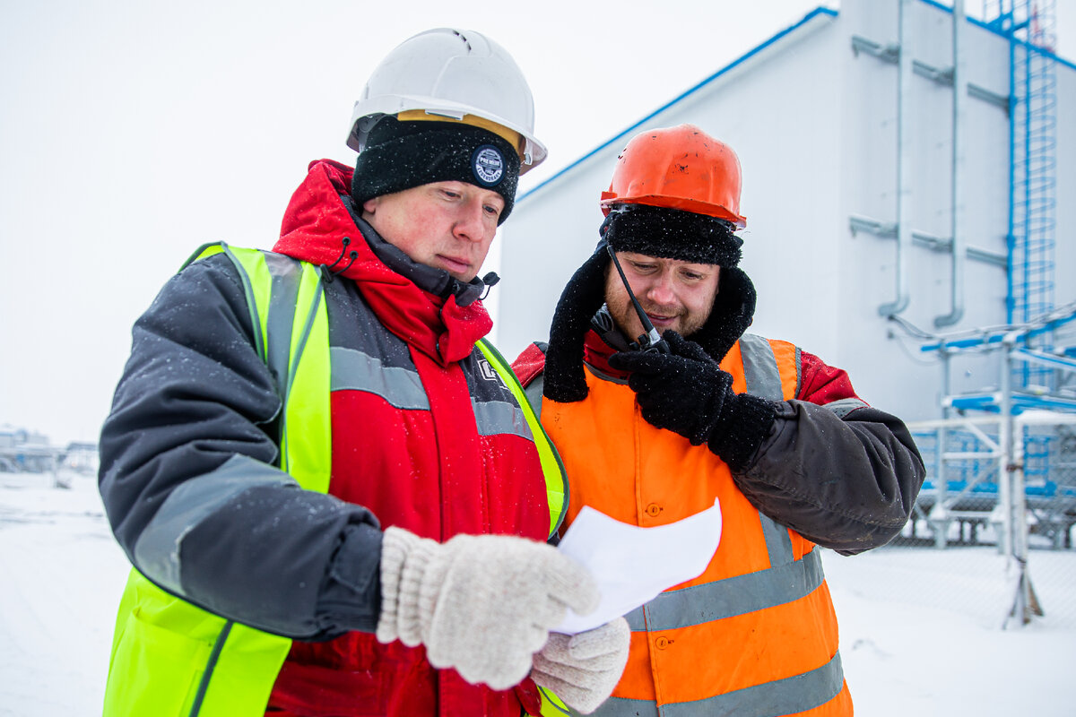
[[[184,267],[222,253],[243,284],[255,349],[280,383],[279,468],[303,489],[327,492],[332,463],[331,364],[322,269],[223,242],[200,247]],[[272,312],[291,316],[289,325],[270,324],[273,301],[294,302],[287,312]],[[478,347],[508,386],[534,435],[546,476],[552,535],[567,505],[560,456],[508,362],[484,340]],[[116,617],[103,715],[263,717],[291,646],[288,637],[207,612],[131,569]]]

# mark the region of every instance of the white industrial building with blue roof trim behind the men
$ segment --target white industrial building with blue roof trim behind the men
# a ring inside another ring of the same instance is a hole
[[[598,197],[627,140],[690,123],[740,158],[741,267],[759,292],[752,332],[846,369],[866,401],[908,420],[939,417],[945,395],[996,387],[996,354],[957,357],[945,372],[908,334],[1019,320],[1006,305],[1019,272],[1006,242],[1019,91],[1010,39],[965,18],[954,63],[953,17],[925,0],[819,8],[523,195],[501,242],[508,281],[494,292],[501,350],[514,357],[548,336],[561,290],[597,242]],[[1056,242],[1042,273],[1049,307],[1064,306],[1076,300],[1076,209],[1063,201],[1076,192],[1076,123],[1065,121],[1076,66],[1031,53],[1049,60],[1056,83]]]

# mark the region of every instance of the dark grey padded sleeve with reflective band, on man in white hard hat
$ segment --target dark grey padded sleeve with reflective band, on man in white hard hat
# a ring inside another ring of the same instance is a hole
[[[175,596],[269,632],[372,632],[378,521],[274,467],[281,401],[228,260],[172,277],[132,339],[101,431],[99,483],[133,565]]]

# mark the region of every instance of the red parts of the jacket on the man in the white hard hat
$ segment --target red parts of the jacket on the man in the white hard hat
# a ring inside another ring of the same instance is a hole
[[[401,410],[371,392],[335,390],[329,492],[370,508],[382,529],[400,526],[439,542],[458,533],[544,540],[549,511],[537,451],[520,436],[480,435],[470,411],[468,384],[483,378],[465,369],[473,365],[475,342],[492,327],[489,314],[479,301],[459,306],[455,297],[435,297],[379,260],[341,203],[350,186],[350,169],[314,162],[292,198],[273,250],[330,264],[340,255],[341,238],[352,236],[349,250],[356,249],[358,258],[342,276],[354,282],[362,302],[348,310],[358,313],[362,306],[372,316],[335,317],[329,304],[330,336],[353,334],[349,339],[366,355],[391,355],[392,347],[381,344],[392,343],[388,334],[399,339],[407,356],[393,358],[416,373],[428,410]],[[342,326],[342,318],[352,326]],[[359,325],[362,333],[354,332]],[[334,346],[338,341],[330,338]],[[467,367],[459,363],[464,359]],[[454,671],[434,670],[424,656],[423,648],[381,645],[360,632],[328,643],[296,642],[270,705],[298,700],[316,707],[309,714],[334,716],[520,714],[512,691],[469,685]],[[324,679],[337,689],[322,690]]]

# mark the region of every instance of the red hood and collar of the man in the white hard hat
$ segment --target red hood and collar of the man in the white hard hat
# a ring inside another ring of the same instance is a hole
[[[351,168],[339,162],[311,162],[284,213],[273,250],[324,266],[343,253],[334,271],[346,267],[339,275],[355,282],[386,329],[442,365],[463,359],[493,328],[475,298],[484,285],[465,285],[448,272],[411,261],[368,224],[356,221],[343,201],[350,195],[351,174]],[[346,256],[352,250],[354,261]]]

